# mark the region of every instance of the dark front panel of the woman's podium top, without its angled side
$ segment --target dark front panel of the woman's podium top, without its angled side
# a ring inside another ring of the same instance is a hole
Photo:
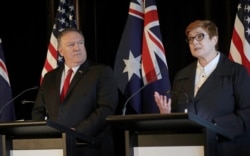
[[[200,128],[201,125],[187,120],[188,114],[135,114],[135,115],[113,115],[107,121],[125,130],[164,130],[164,129],[191,129]]]

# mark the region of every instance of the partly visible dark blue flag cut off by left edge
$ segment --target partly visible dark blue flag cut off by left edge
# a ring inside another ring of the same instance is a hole
[[[5,65],[2,41],[0,39],[0,121],[15,120],[15,107],[14,103],[10,102],[11,99],[12,89]]]

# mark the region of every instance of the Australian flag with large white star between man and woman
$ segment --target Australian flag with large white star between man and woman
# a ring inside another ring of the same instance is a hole
[[[157,113],[154,91],[165,94],[170,80],[154,0],[131,0],[116,54],[118,88],[136,113]]]

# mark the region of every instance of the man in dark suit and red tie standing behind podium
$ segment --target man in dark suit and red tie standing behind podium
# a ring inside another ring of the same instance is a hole
[[[73,28],[59,34],[58,50],[65,64],[44,76],[32,119],[44,120],[48,115],[52,121],[93,137],[94,144],[79,147],[77,155],[114,155],[112,131],[106,123],[106,117],[115,113],[118,104],[111,67],[87,60],[84,36]],[[68,69],[73,70],[71,82],[64,99],[60,99]]]

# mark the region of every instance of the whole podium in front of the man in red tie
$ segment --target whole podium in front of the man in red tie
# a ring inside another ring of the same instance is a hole
[[[75,156],[76,139],[83,143],[93,142],[92,138],[50,120],[3,122],[0,134],[2,156],[23,150],[59,150],[61,156]]]

